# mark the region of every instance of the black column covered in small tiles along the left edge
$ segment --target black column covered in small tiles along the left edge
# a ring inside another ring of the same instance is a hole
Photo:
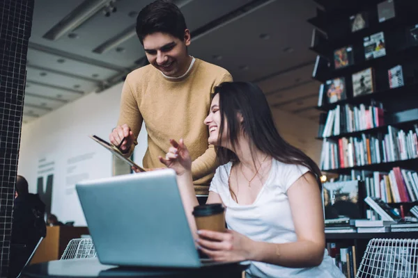
[[[33,4],[0,1],[0,277],[8,272]]]

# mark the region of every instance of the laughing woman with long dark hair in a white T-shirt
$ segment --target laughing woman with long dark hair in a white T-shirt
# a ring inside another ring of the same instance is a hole
[[[247,277],[344,277],[325,252],[320,170],[281,138],[263,92],[252,83],[222,83],[205,124],[222,165],[207,204],[225,206],[225,233],[196,231],[198,202],[183,140],[170,140],[160,157],[176,170],[199,249],[216,261],[251,261]]]

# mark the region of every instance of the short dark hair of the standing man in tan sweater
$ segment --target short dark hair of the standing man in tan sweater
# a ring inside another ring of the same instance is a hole
[[[148,4],[137,17],[137,35],[144,44],[146,35],[167,33],[183,41],[187,29],[185,17],[176,4],[157,0]]]

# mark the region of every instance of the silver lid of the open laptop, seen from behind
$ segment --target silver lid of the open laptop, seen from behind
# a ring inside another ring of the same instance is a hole
[[[101,263],[201,266],[173,170],[83,181],[75,187]]]

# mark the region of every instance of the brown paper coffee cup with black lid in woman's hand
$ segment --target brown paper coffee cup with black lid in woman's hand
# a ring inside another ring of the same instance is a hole
[[[225,208],[222,204],[195,206],[194,220],[198,230],[225,231]]]

